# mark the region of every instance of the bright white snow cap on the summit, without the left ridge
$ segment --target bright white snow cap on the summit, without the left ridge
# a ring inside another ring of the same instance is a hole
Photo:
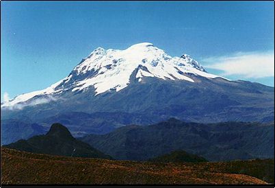
[[[217,75],[196,69],[193,64],[188,62],[188,60],[193,59],[187,57],[186,60],[178,57],[172,58],[151,43],[140,43],[125,50],[98,48],[85,61],[75,67],[75,71],[77,74],[85,74],[92,70],[99,72],[92,78],[78,81],[77,86],[72,91],[81,91],[88,86],[94,86],[96,95],[110,89],[120,91],[128,86],[131,74],[140,65],[146,67],[148,71],[142,69],[137,71],[135,78],[138,78],[139,82],[144,76],[157,77],[163,80],[179,79],[194,82],[183,73],[194,73],[207,78],[217,77]]]

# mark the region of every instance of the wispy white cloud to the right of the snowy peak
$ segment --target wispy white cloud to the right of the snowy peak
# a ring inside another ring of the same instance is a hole
[[[222,75],[241,75],[244,78],[274,76],[274,51],[239,52],[231,56],[206,58],[206,68],[223,71]]]

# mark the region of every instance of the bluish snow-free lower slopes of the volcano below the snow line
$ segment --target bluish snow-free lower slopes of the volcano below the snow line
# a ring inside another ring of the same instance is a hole
[[[74,136],[105,134],[120,126],[155,124],[170,117],[198,123],[274,121],[274,87],[187,76],[196,82],[150,77],[138,82],[133,73],[125,89],[96,96],[92,86],[85,91],[72,92],[70,84],[73,83],[66,83],[68,90],[52,96],[56,100],[21,110],[1,108],[1,119],[20,119],[48,128],[60,122],[68,126]],[[31,100],[25,102],[29,103]],[[83,114],[79,115],[80,112]]]

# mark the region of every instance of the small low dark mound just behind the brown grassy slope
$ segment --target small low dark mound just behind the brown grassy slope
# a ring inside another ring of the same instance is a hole
[[[189,154],[185,151],[174,151],[170,154],[164,154],[162,156],[157,156],[156,158],[150,158],[148,161],[161,162],[161,163],[198,163],[198,162],[207,162],[207,160],[201,156],[195,154]]]

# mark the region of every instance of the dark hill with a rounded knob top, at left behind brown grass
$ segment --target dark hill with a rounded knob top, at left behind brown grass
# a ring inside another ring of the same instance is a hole
[[[88,143],[75,139],[62,124],[53,124],[45,135],[21,139],[4,147],[38,154],[111,159],[111,156],[92,148]]]

